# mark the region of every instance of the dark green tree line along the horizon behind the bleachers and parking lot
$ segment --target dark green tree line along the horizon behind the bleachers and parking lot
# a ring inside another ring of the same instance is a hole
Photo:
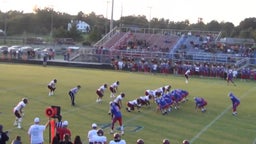
[[[68,31],[67,25],[71,20],[82,20],[90,25],[90,31],[86,34],[79,32],[75,25]],[[113,26],[136,26],[140,28],[177,29],[177,30],[202,30],[222,31],[222,37],[253,38],[256,40],[256,18],[245,18],[238,26],[231,22],[218,22],[212,20],[204,23],[199,19],[197,23],[189,20],[171,21],[164,18],[152,18],[146,16],[124,16],[113,21]],[[82,11],[77,15],[57,12],[53,8],[34,9],[33,13],[23,11],[0,11],[0,29],[7,36],[49,36],[49,38],[73,38],[77,42],[94,43],[101,39],[110,30],[110,19],[94,12],[85,14]]]

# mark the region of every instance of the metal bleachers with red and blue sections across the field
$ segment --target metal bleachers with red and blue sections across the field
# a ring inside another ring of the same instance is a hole
[[[211,39],[209,40],[209,37]],[[120,49],[127,41],[133,39],[146,40],[150,43],[151,49]],[[209,52],[202,47],[195,47],[194,44],[202,45],[203,42],[216,43],[221,38],[218,31],[199,30],[173,30],[173,29],[147,29],[116,27],[105,35],[94,47],[104,47],[113,57],[148,57],[148,59],[172,59],[173,61],[228,63],[243,67],[249,63],[245,57],[232,53]],[[152,47],[159,49],[152,49]],[[161,51],[160,48],[168,47],[169,51]]]

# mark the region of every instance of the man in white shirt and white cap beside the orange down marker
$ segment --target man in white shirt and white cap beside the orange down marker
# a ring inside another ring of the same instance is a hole
[[[30,139],[30,144],[40,144],[44,143],[44,131],[49,125],[49,121],[45,125],[40,125],[40,119],[36,117],[34,119],[34,124],[28,129],[28,135]]]

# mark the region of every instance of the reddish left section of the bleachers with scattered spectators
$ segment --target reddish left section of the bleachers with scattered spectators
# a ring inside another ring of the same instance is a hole
[[[107,41],[103,47],[117,50],[169,52],[178,40],[171,34],[118,33]]]

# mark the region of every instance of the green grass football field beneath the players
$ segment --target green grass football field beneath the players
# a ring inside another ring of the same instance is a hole
[[[58,80],[55,95],[48,96],[47,84],[50,80]],[[69,121],[72,138],[80,135],[87,142],[87,132],[92,123],[104,128],[108,140],[110,116],[109,90],[106,91],[102,104],[95,102],[96,89],[103,83],[111,84],[119,80],[119,92],[125,92],[125,104],[144,94],[146,89],[156,89],[170,84],[172,89],[181,88],[189,91],[189,101],[183,103],[179,110],[168,115],[151,108],[142,108],[128,113],[123,112],[125,135],[122,137],[128,144],[136,143],[138,138],[146,144],[160,144],[168,138],[172,144],[180,144],[188,139],[195,144],[255,144],[256,141],[256,106],[254,81],[235,80],[237,86],[227,86],[222,79],[194,78],[185,84],[183,76],[151,75],[119,71],[104,71],[85,68],[42,67],[34,65],[0,64],[0,123],[9,131],[10,139],[22,136],[24,144],[28,144],[27,130],[35,117],[41,118],[44,124],[48,118],[45,109],[51,105],[61,106],[63,120]],[[70,105],[68,91],[80,84],[81,90],[76,95],[76,106]],[[227,96],[232,91],[241,100],[238,116],[232,116],[231,101]],[[196,112],[193,97],[201,96],[208,101],[207,112]],[[29,99],[25,107],[22,122],[23,129],[13,126],[13,107],[23,98]],[[125,105],[124,105],[125,106]],[[116,128],[118,124],[116,124]],[[45,131],[45,143],[48,143],[48,130]],[[10,141],[11,141],[10,140]],[[10,142],[9,141],[9,142]]]

